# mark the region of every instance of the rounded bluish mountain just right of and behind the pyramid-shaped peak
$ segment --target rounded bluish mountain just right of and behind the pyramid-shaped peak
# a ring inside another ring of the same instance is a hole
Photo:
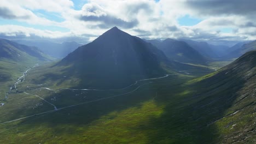
[[[207,59],[184,41],[166,39],[158,45],[165,55],[178,62],[206,64]]]

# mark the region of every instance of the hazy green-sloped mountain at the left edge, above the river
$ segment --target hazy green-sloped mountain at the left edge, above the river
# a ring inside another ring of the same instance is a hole
[[[37,63],[52,60],[37,47],[0,39],[0,95],[5,95],[13,81],[24,74],[25,70]]]

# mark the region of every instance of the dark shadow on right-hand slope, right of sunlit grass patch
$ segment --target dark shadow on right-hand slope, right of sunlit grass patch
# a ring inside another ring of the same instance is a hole
[[[245,83],[242,77],[225,73],[222,71],[193,85],[183,85],[180,93],[190,92],[184,95],[170,93],[168,84],[159,87],[156,101],[166,107],[161,117],[150,119],[149,143],[218,143],[223,135],[219,135],[212,122],[226,115],[226,110],[238,97],[236,92]],[[178,100],[173,102],[172,99]],[[154,135],[150,131],[153,127],[157,131]]]

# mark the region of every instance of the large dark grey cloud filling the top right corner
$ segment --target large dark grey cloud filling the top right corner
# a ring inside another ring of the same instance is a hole
[[[185,3],[201,15],[255,15],[255,0],[189,0]]]

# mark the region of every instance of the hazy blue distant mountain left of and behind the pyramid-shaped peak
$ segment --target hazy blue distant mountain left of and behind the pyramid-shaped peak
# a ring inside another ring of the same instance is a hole
[[[36,46],[44,53],[55,57],[55,58],[64,58],[68,53],[73,52],[77,47],[82,46],[76,42],[64,42],[64,43],[53,43],[46,40],[18,40],[18,43]]]

